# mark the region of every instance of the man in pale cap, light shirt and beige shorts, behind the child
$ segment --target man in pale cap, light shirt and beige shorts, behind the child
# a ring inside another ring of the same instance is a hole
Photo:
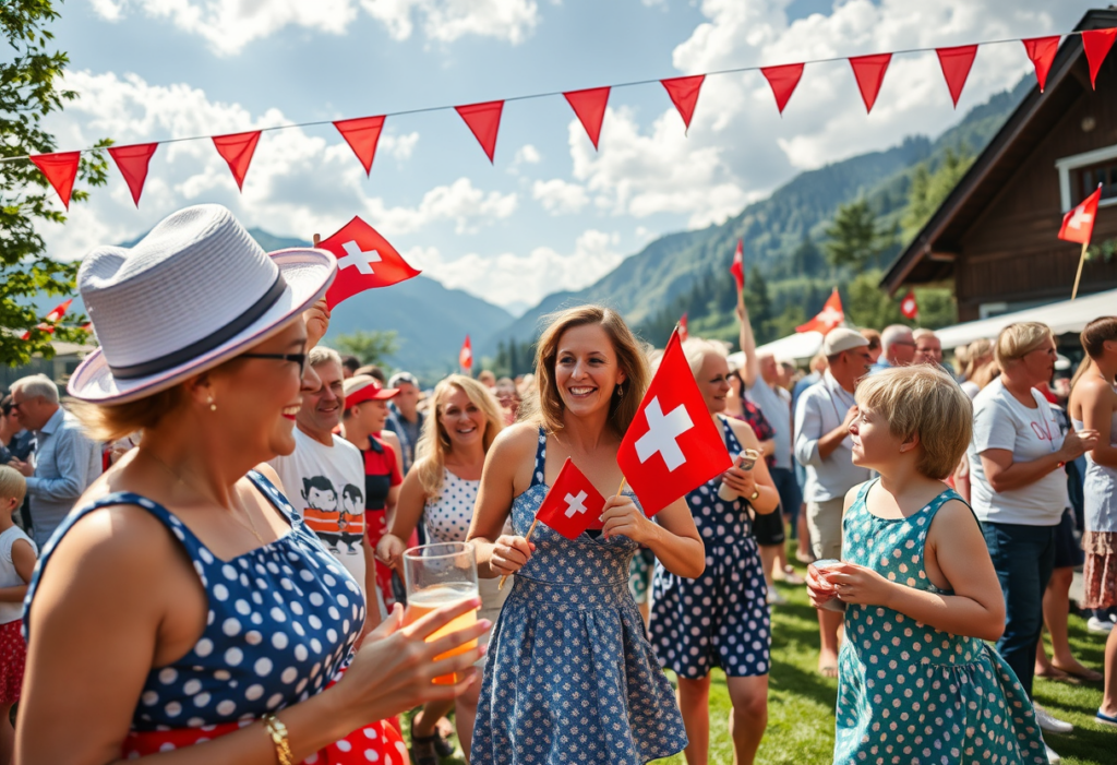
[[[849,425],[857,418],[853,391],[872,364],[869,341],[852,329],[831,329],[822,343],[829,367],[822,381],[803,391],[795,410],[795,459],[806,467],[806,523],[814,557],[841,557],[841,516],[846,493],[870,471],[853,465]],[[838,676],[838,628],[842,614],[819,610],[822,650],[819,671]]]

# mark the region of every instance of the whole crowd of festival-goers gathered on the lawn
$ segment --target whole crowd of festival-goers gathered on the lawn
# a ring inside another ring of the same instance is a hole
[[[715,668],[751,763],[776,582],[817,609],[836,763],[1058,762],[1035,675],[1104,681],[1117,726],[1117,317],[1073,380],[1028,323],[954,366],[928,329],[839,327],[801,371],[742,303],[738,363],[682,343],[734,465],[651,519],[617,453],[661,354],[620,315],[562,310],[534,374],[424,392],[322,343],[335,271],[218,205],[87,256],[99,348],[65,402],[3,398],[0,763],[437,765],[456,733],[475,765],[695,765]],[[529,530],[567,460],[604,510]],[[479,595],[410,619],[428,543],[471,544]],[[1079,566],[1104,673],[1067,638]]]

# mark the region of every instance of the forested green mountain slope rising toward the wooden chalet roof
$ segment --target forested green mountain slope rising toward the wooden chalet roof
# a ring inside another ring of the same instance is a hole
[[[839,276],[818,248],[839,205],[863,198],[879,224],[899,229],[908,189],[922,165],[936,170],[948,151],[978,153],[1032,87],[1030,78],[994,95],[973,108],[954,127],[935,140],[906,138],[900,145],[800,173],[767,199],[754,202],[734,218],[698,231],[671,233],[652,241],[595,284],[575,291],[550,295],[535,308],[491,335],[480,346],[491,354],[498,343],[531,342],[546,314],[565,306],[602,303],[624,314],[645,336],[661,341],[658,325],[674,324],[690,312],[691,329],[707,336],[733,338],[732,279],[726,274],[738,238],[745,242],[750,281],[758,274],[771,296],[770,312],[780,314],[799,305],[803,316],[817,313]],[[880,264],[899,249],[886,249]],[[695,300],[708,305],[696,305]],[[667,313],[665,313],[667,312]],[[669,318],[667,318],[669,316]],[[655,325],[655,326],[653,326]]]

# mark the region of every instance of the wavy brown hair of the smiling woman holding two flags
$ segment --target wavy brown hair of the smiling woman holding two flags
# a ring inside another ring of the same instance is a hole
[[[535,385],[538,402],[532,419],[551,433],[563,429],[563,412],[566,408],[555,382],[558,341],[567,329],[588,324],[596,324],[605,331],[617,354],[617,364],[624,372],[624,382],[618,386],[619,394],[614,393],[609,402],[609,423],[618,436],[623,436],[632,424],[643,394],[648,390],[648,362],[645,360],[640,341],[629,329],[621,315],[604,306],[577,306],[547,317],[547,327],[540,336],[535,352]]]

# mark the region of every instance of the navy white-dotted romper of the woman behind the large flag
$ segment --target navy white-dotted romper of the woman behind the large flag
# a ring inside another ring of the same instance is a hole
[[[729,453],[744,451],[724,418]],[[704,678],[713,667],[729,677],[767,675],[772,623],[760,547],[752,535],[748,500],[725,501],[718,479],[687,495],[706,546],[706,571],[696,580],[656,563],[651,642],[663,667],[679,677]]]

